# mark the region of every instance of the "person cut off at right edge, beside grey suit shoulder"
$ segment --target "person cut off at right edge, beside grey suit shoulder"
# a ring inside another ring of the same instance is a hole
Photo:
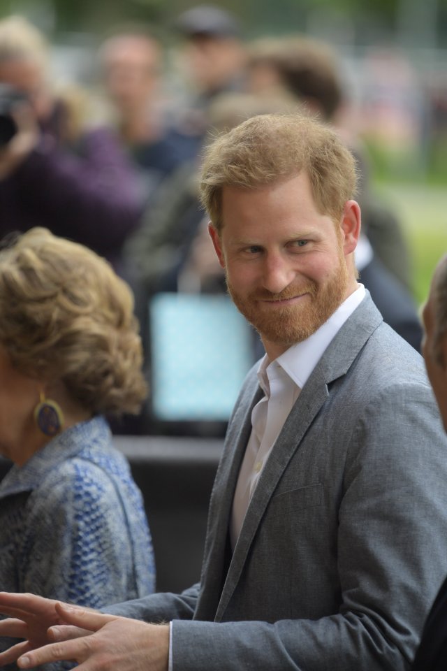
[[[423,322],[425,366],[447,431],[447,256],[439,261],[434,272]],[[425,622],[412,671],[445,671],[446,663],[447,579]]]

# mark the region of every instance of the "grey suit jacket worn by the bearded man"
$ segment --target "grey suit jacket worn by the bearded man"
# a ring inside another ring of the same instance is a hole
[[[228,426],[200,584],[109,612],[175,619],[174,671],[408,669],[447,569],[447,441],[423,360],[367,296],[302,389],[231,556],[260,397],[254,368]]]

